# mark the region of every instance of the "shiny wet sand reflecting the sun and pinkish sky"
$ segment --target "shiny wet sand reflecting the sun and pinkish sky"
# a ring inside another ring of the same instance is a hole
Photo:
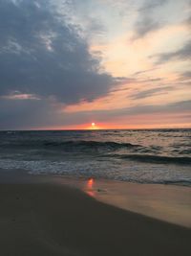
[[[119,208],[191,228],[190,187],[94,179],[83,190]]]

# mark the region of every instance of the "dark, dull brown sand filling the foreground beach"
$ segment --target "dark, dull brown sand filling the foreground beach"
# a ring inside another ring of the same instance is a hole
[[[191,229],[104,204],[61,184],[0,184],[2,256],[191,255]]]

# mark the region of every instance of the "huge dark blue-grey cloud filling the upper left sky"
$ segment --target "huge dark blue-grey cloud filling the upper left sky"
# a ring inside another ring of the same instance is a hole
[[[77,31],[49,0],[1,0],[0,95],[19,91],[73,104],[107,94],[116,81],[99,72]]]

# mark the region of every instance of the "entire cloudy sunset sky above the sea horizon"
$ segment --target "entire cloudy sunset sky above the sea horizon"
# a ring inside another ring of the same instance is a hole
[[[190,0],[0,0],[0,129],[191,128]]]

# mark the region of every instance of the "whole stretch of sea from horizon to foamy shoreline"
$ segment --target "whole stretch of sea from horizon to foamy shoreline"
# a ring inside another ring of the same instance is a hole
[[[0,168],[191,186],[191,129],[0,131]]]

